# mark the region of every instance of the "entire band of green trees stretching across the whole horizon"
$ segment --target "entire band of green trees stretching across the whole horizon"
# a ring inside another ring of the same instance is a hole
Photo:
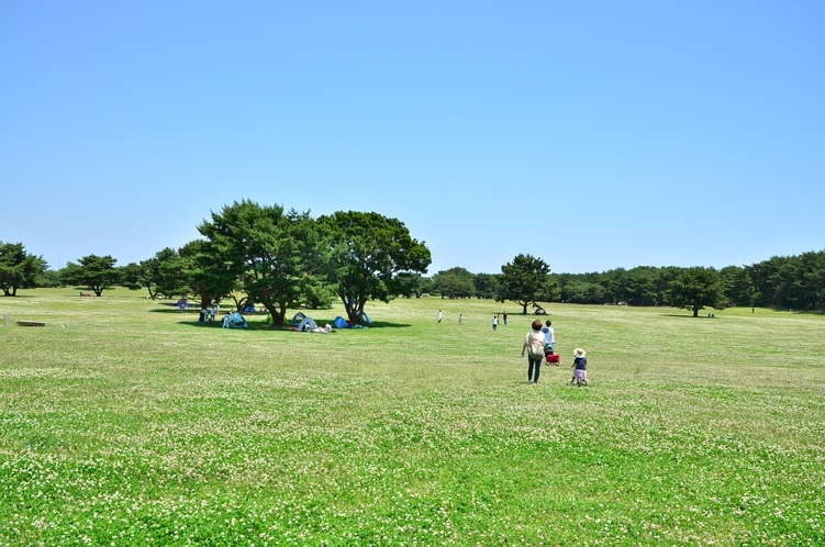
[[[694,316],[704,308],[812,310],[825,301],[825,252],[720,270],[640,266],[592,274],[551,274],[540,258],[520,254],[499,274],[455,267],[427,277],[426,244],[398,219],[375,212],[313,219],[309,211],[244,200],[211,212],[198,231],[201,238],[140,263],[118,267],[111,256],[88,255],[57,271],[22,243],[0,242],[0,289],[13,297],[20,288],[75,284],[99,297],[123,286],[146,289],[149,298],[197,298],[202,308],[231,299],[238,310],[263,305],[276,325],[290,308],[327,308],[336,298],[354,323],[369,300],[423,294],[510,300],[522,313],[560,301],[670,305]]]

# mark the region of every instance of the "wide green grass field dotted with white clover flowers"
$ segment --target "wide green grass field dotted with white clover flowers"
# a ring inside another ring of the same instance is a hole
[[[825,544],[825,316],[548,311],[562,366],[527,384],[514,304],[320,335],[0,299],[0,545]]]

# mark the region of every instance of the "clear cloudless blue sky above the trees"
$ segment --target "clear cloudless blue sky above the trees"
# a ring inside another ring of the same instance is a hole
[[[0,241],[125,265],[242,199],[430,274],[825,249],[825,2],[0,0]]]

